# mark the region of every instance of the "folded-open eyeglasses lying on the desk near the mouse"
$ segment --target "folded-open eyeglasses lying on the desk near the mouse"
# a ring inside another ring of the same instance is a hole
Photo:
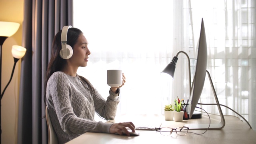
[[[176,134],[180,135],[180,136],[184,136],[188,133],[188,127],[183,126],[180,128],[156,128],[156,131],[160,132],[160,134],[164,135],[164,136],[168,136],[170,134],[172,134],[173,130],[176,131]]]

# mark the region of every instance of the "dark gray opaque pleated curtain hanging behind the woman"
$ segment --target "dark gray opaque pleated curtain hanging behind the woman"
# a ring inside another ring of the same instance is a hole
[[[73,26],[73,0],[24,0],[18,144],[48,143],[44,78],[52,40],[65,25]]]

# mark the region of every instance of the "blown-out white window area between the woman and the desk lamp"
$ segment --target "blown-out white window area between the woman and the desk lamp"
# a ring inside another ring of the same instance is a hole
[[[74,27],[84,32],[91,51],[78,74],[106,98],[107,70],[123,70],[118,112],[161,113],[167,85],[160,72],[172,50],[172,13],[170,0],[74,0]]]

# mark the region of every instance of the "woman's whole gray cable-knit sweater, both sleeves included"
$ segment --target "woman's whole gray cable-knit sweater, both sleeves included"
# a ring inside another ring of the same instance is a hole
[[[110,90],[107,100],[98,91],[91,93],[88,85],[78,76],[54,72],[46,87],[46,105],[58,142],[64,144],[85,132],[109,133],[112,124],[96,122],[94,113],[114,119],[118,94]]]

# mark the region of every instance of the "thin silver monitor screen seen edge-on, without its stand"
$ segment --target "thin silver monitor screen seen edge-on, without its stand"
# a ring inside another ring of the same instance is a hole
[[[204,20],[202,18],[201,23],[201,32],[199,37],[199,45],[198,45],[198,54],[197,54],[197,61],[196,61],[196,72],[194,76],[194,80],[192,83],[191,89],[191,109],[189,113],[189,117],[192,117],[198,100],[201,96],[203,87],[204,87],[204,80],[206,76],[206,66],[207,66],[207,45],[206,45],[206,36],[204,30]]]

